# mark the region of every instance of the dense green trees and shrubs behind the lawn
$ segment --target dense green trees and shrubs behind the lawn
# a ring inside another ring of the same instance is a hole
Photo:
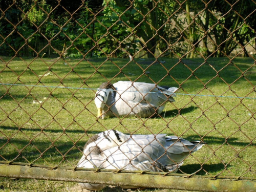
[[[50,56],[63,50],[70,57],[137,57],[143,47],[150,51],[148,57],[156,56],[156,50],[174,57],[211,52],[225,56],[255,38],[252,13],[256,7],[246,0],[230,1],[232,9],[226,1],[209,1],[207,9],[201,0],[102,2],[101,9],[96,9],[95,2],[89,1],[83,6],[80,1],[72,6],[61,1],[58,6],[54,1],[29,0],[10,8],[12,1],[5,1],[1,4],[5,14],[0,19],[0,54],[40,56],[47,52]]]

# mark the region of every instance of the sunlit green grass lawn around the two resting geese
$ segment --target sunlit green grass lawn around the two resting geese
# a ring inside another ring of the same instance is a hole
[[[164,118],[96,121],[95,90],[54,88],[98,88],[106,79],[113,79],[113,83],[131,79],[180,87],[179,94],[256,97],[256,66],[251,58],[232,62],[227,58],[209,58],[206,62],[200,58],[160,60],[165,63],[150,65],[153,61],[148,59],[129,63],[112,58],[66,59],[64,63],[62,59],[1,57],[0,83],[49,87],[0,86],[0,160],[74,167],[81,157],[78,149],[82,150],[95,133],[105,129],[136,134],[161,132],[189,140],[203,138],[209,143],[185,160],[183,173],[197,172],[203,164],[198,175],[255,178],[255,99],[177,95],[176,102],[166,105],[161,114]],[[0,190],[36,191],[41,186],[44,191],[60,191],[76,185],[33,183],[3,178]]]

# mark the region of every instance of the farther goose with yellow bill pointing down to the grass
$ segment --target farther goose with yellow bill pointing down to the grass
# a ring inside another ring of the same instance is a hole
[[[103,119],[105,116],[156,116],[162,113],[167,100],[173,102],[176,97],[174,92],[177,88],[163,87],[145,82],[104,82],[94,99],[98,117]]]

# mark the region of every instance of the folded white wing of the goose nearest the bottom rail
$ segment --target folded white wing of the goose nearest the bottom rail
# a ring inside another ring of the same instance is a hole
[[[109,169],[125,168],[130,170],[144,170],[152,167],[151,170],[156,171],[155,168],[161,165],[156,162],[156,165],[152,166],[151,163],[164,153],[166,144],[164,137],[165,134],[133,135],[131,139],[120,146],[102,152],[102,159],[106,159],[102,166]]]

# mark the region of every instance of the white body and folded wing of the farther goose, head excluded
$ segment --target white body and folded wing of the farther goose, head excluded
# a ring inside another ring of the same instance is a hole
[[[160,114],[165,106],[166,100],[175,101],[174,91],[177,88],[168,90],[152,83],[118,81],[113,84],[117,93],[115,95],[115,109],[111,109],[118,115],[134,115],[150,117]],[[168,97],[169,95],[169,97]],[[159,107],[160,106],[160,107]]]

